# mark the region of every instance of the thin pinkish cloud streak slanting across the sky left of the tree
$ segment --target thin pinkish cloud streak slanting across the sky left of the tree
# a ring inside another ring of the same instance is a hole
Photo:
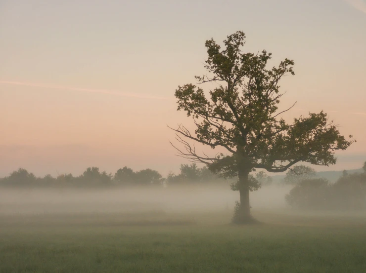
[[[78,87],[68,87],[68,86],[60,86],[60,85],[45,85],[45,84],[38,84],[38,83],[19,82],[19,81],[0,80],[0,84],[20,85],[20,86],[27,86],[27,87],[40,87],[40,88],[47,88],[47,89],[58,89],[58,90],[68,90],[68,91],[89,92],[89,93],[100,93],[100,94],[108,94],[108,95],[115,95],[115,96],[120,96],[120,97],[130,97],[130,98],[139,98],[139,99],[157,99],[157,100],[168,100],[169,99],[167,97],[151,96],[148,94],[126,93],[126,92],[119,92],[119,91],[115,91],[115,90],[78,88]]]

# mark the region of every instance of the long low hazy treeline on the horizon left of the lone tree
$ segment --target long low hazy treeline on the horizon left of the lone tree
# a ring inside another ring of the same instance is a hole
[[[114,174],[99,171],[97,167],[87,168],[80,176],[71,173],[59,174],[53,177],[47,174],[44,177],[36,177],[32,172],[19,168],[9,176],[0,178],[0,186],[14,187],[104,187],[104,186],[150,186],[166,187],[168,185],[184,185],[189,183],[223,183],[225,179],[213,174],[206,166],[199,168],[195,163],[182,164],[178,175],[170,173],[163,177],[158,171],[143,169],[134,171],[129,167],[123,167]]]

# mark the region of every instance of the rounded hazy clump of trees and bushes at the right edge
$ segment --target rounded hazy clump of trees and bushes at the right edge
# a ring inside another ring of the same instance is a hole
[[[312,173],[307,174],[297,182],[292,181],[295,187],[286,195],[286,201],[299,209],[366,209],[366,162],[363,169],[363,173],[354,174],[343,171],[342,177],[333,184],[323,178],[312,178]]]

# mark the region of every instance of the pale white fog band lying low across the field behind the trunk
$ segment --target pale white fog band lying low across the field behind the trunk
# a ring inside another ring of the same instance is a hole
[[[250,194],[257,209],[284,209],[292,186],[267,186]],[[225,186],[115,189],[0,189],[1,214],[232,211],[238,192]]]

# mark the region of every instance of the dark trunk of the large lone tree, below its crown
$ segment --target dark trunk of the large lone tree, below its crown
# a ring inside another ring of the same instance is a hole
[[[239,171],[240,206],[236,209],[233,222],[236,224],[252,223],[249,202],[249,170]]]

